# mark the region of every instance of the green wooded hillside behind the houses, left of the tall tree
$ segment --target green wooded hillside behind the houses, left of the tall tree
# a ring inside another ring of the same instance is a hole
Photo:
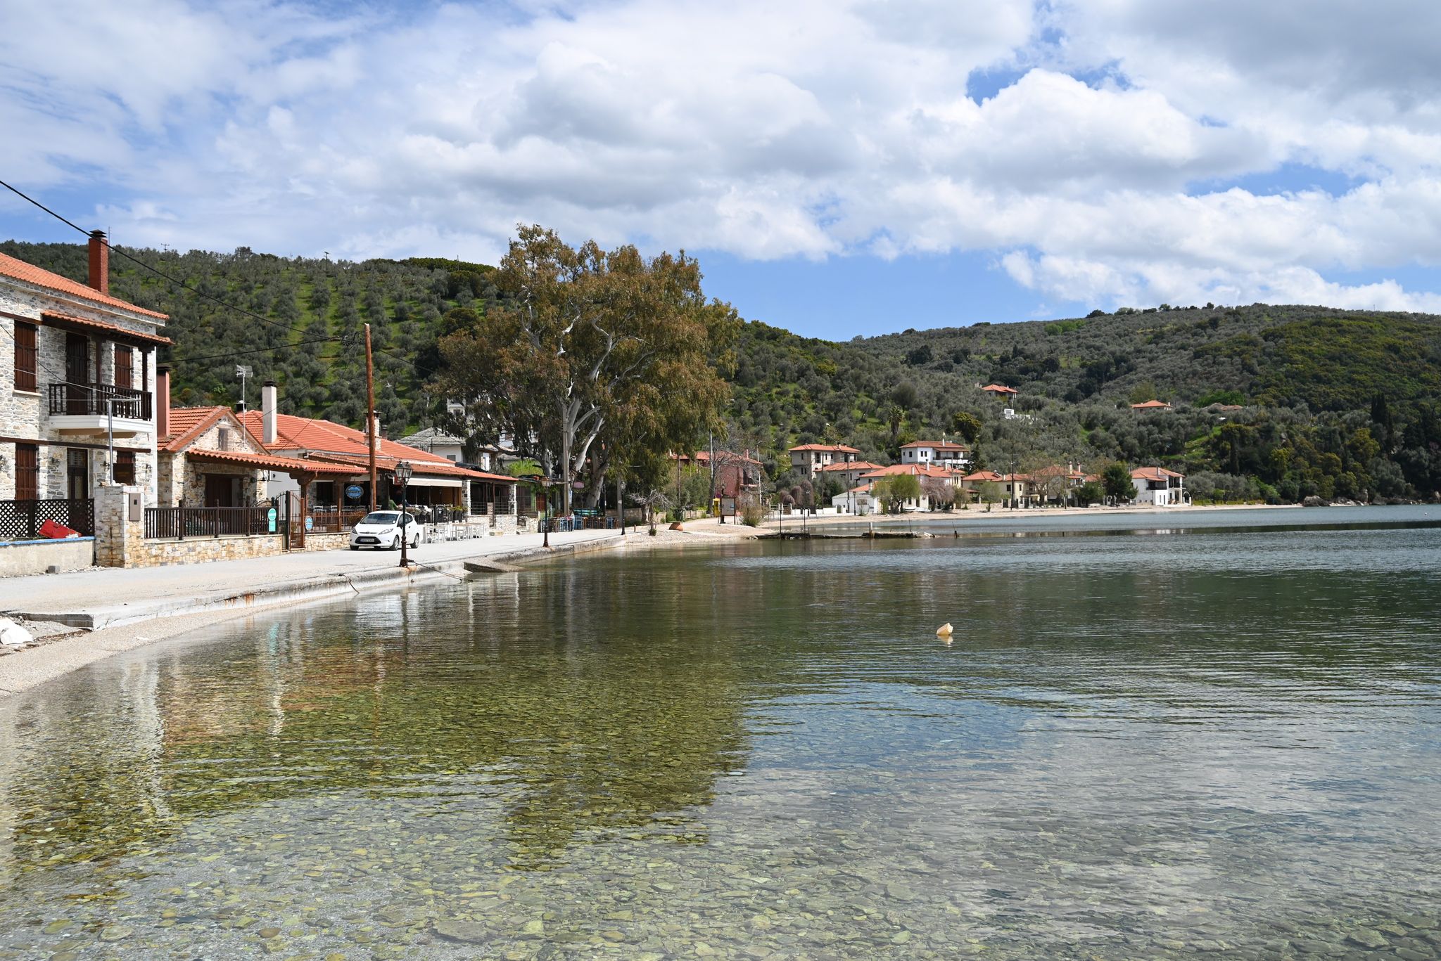
[[[0,251],[85,280],[82,245],[7,241]],[[427,382],[437,365],[442,316],[455,307],[484,307],[494,297],[484,280],[491,268],[444,259],[350,264],[244,248],[235,254],[122,251],[199,291],[111,256],[111,292],[170,314],[166,334],[176,346],[161,353],[161,363],[173,367],[176,403],[238,403],[235,366],[245,365],[252,370],[251,405],[259,399],[261,382],[274,379],[285,414],[357,426],[366,409],[363,324],[369,323],[376,408],[391,437],[432,422],[438,399],[427,392]]]

